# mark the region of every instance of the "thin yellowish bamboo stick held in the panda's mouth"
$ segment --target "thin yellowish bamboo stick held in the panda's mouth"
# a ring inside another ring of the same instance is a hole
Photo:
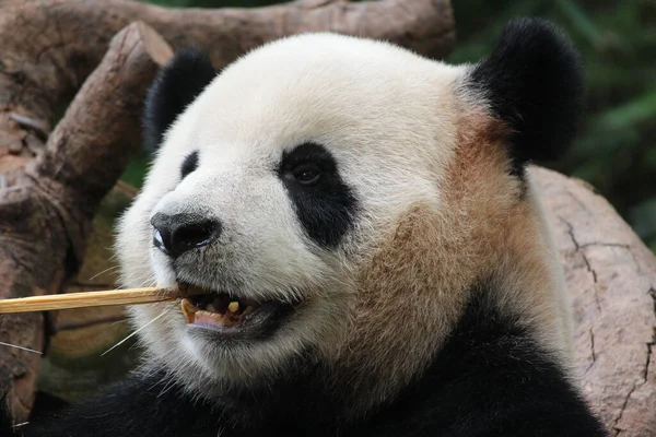
[[[0,314],[49,311],[54,309],[150,304],[175,300],[187,293],[165,288],[129,288],[103,292],[65,293],[0,300]]]

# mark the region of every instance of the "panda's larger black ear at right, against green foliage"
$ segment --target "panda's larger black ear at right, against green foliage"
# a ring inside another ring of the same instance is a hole
[[[512,21],[470,81],[511,129],[515,174],[523,175],[529,161],[559,157],[571,144],[583,110],[583,69],[571,43],[549,22]]]

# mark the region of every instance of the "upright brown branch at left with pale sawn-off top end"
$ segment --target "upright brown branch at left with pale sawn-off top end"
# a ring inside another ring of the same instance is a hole
[[[0,190],[0,291],[2,297],[57,293],[83,257],[91,218],[139,144],[138,115],[148,84],[173,55],[142,23],[114,37],[44,153],[8,176]],[[0,317],[3,342],[42,350],[43,315]],[[14,418],[33,401],[38,355],[2,350],[0,392]]]

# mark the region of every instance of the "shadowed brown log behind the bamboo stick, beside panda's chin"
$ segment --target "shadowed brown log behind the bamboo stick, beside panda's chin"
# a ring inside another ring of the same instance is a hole
[[[109,290],[118,285],[113,250],[115,227],[118,215],[136,194],[134,188],[119,181],[105,196],[87,238],[84,262],[65,293]],[[51,332],[48,351],[40,362],[35,405],[39,404],[39,394],[66,402],[84,400],[99,387],[125,378],[137,366],[142,352],[136,338],[115,347],[130,334],[124,306],[57,311]],[[33,410],[33,413],[43,412]]]

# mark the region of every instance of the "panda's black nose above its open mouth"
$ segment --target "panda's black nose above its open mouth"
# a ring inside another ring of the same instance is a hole
[[[151,218],[153,245],[164,253],[180,255],[207,246],[221,235],[221,223],[197,214],[167,215],[157,213]]]

